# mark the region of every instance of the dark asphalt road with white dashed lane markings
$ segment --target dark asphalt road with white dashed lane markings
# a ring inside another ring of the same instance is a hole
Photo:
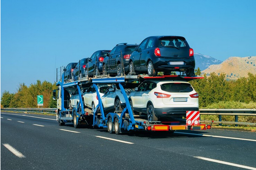
[[[55,116],[2,112],[0,117],[1,170],[256,170],[255,132],[116,135],[59,126]]]

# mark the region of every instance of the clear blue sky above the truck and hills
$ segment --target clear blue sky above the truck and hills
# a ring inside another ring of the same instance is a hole
[[[256,56],[256,0],[1,0],[1,95],[117,43],[184,36],[224,61]]]

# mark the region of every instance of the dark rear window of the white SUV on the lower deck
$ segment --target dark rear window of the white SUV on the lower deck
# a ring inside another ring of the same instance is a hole
[[[187,93],[193,91],[192,86],[187,83],[166,83],[161,85],[161,89],[173,93]]]

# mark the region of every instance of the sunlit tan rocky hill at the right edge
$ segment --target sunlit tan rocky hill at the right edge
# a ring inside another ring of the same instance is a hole
[[[248,72],[256,74],[256,56],[250,57],[230,57],[222,64],[210,65],[201,71],[202,74],[215,72],[216,74],[225,73],[227,79],[238,79],[248,77]]]

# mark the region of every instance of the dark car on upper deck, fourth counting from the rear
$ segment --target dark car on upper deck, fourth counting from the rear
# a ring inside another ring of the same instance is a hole
[[[79,62],[77,63],[77,65],[75,66],[73,72],[72,72],[72,80],[78,80],[79,77],[80,79],[83,77],[87,77],[85,76],[85,67],[86,64],[88,63],[88,58],[84,58],[82,60],[79,60]]]

